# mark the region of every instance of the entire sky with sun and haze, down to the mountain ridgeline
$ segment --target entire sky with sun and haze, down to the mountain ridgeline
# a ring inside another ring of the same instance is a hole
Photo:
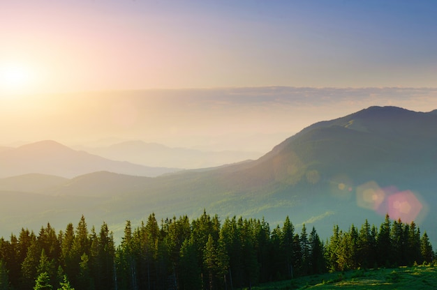
[[[267,151],[370,105],[437,108],[436,1],[0,1],[0,144]]]

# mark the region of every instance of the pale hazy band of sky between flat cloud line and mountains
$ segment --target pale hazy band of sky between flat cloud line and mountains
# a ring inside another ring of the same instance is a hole
[[[209,150],[267,152],[317,121],[371,105],[437,109],[437,89],[269,86],[66,93],[3,99],[0,144],[128,139]]]

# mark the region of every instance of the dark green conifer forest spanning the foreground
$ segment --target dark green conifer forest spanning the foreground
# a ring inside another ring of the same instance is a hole
[[[429,238],[414,222],[388,217],[379,227],[364,221],[347,231],[335,226],[321,241],[316,229],[297,233],[289,217],[271,229],[265,220],[204,212],[198,219],[154,214],[115,245],[103,223],[38,234],[22,229],[0,239],[0,290],[238,289],[336,270],[431,263]]]

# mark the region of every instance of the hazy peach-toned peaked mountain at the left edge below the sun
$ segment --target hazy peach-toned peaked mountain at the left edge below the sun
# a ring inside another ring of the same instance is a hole
[[[0,164],[0,178],[30,173],[73,178],[94,171],[158,176],[178,170],[108,160],[84,151],[75,151],[54,141],[41,141],[1,151]]]

